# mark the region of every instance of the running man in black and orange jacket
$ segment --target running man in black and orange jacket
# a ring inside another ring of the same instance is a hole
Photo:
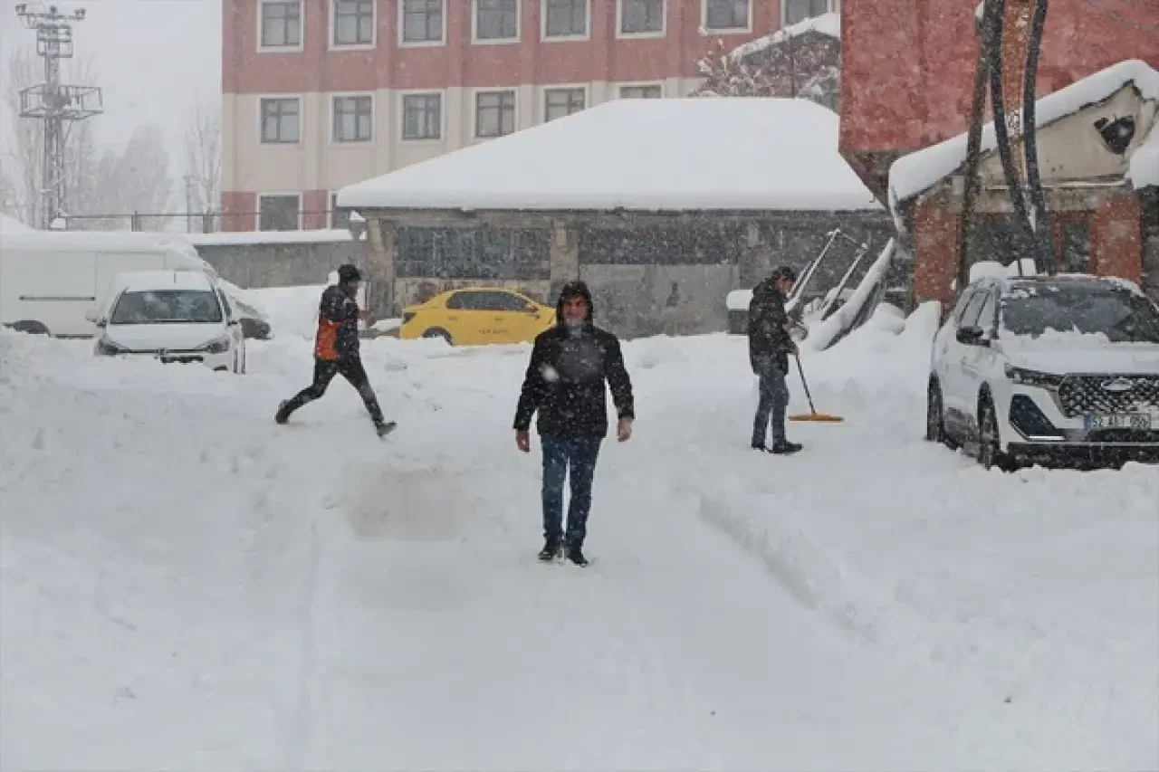
[[[393,421],[382,420],[382,410],[358,351],[358,320],[366,316],[366,312],[358,308],[360,281],[362,272],[355,265],[343,265],[338,269],[338,283],[322,292],[318,309],[318,333],[314,336],[314,383],[278,406],[277,415],[274,416],[278,423],[285,423],[291,413],[321,398],[334,377],[342,376],[358,389],[378,436],[385,437],[394,429]]]

